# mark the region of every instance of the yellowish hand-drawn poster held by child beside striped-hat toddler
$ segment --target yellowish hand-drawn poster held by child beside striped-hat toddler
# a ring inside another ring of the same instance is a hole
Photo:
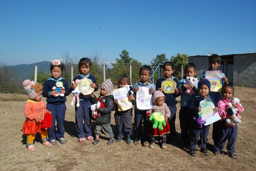
[[[128,99],[127,94],[128,89],[125,87],[113,90],[113,97],[114,99],[118,100],[118,111],[125,111],[133,107],[132,102],[130,99]]]

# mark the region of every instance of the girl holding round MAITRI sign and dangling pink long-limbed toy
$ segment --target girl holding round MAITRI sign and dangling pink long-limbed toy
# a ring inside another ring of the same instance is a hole
[[[78,68],[80,74],[78,74],[73,81],[76,79],[81,80],[83,78],[88,78],[92,80],[91,87],[94,88],[94,91],[97,91],[99,86],[96,82],[96,79],[93,75],[90,74],[92,62],[89,58],[82,58],[78,63]],[[71,90],[74,90],[78,85],[78,82],[72,85]],[[80,143],[85,142],[85,136],[87,140],[92,141],[92,111],[90,106],[92,105],[91,96],[83,95],[82,93],[79,95],[80,105],[79,107],[75,107],[76,111],[76,131],[78,140]],[[76,102],[77,103],[77,102]]]

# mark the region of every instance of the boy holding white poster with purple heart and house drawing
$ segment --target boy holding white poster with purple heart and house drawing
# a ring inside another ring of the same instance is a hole
[[[149,80],[151,77],[151,68],[147,65],[143,65],[140,68],[140,81],[134,84],[134,96],[136,97],[136,92],[139,90],[140,87],[147,87],[148,92],[153,94],[155,92],[156,86],[153,82]],[[152,97],[151,97],[152,98]],[[138,109],[137,103],[134,107],[134,129],[135,129],[135,145],[140,145],[141,139],[143,139],[143,145],[149,146],[148,142],[148,118],[146,116],[147,109],[141,110]],[[143,138],[141,137],[141,125],[142,119],[144,124],[144,132]]]

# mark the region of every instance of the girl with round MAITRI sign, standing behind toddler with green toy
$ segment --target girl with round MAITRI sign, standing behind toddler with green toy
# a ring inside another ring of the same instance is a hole
[[[164,93],[164,96],[166,97],[164,103],[169,107],[171,111],[171,117],[168,119],[168,122],[170,124],[170,134],[167,135],[167,142],[173,141],[174,138],[176,137],[176,128],[175,128],[175,120],[176,120],[176,111],[177,111],[177,100],[175,99],[176,97],[179,97],[179,90],[177,87],[179,87],[180,82],[175,76],[175,70],[174,70],[174,65],[172,62],[165,62],[163,66],[163,71],[164,71],[164,78],[160,78],[156,82],[156,90],[159,90]],[[174,90],[173,94],[166,94],[163,91],[163,88],[161,86],[162,82],[166,80],[171,80],[175,81],[177,84],[177,87]]]

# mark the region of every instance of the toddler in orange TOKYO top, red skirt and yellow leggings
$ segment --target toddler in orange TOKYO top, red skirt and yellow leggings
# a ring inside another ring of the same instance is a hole
[[[51,147],[52,144],[47,141],[48,131],[41,128],[41,121],[44,118],[44,113],[47,113],[46,105],[42,101],[43,86],[34,81],[25,80],[23,86],[30,100],[26,101],[24,107],[24,115],[26,121],[23,124],[22,131],[24,136],[27,135],[27,147],[29,151],[35,151],[34,140],[36,133],[41,135],[43,145]]]

